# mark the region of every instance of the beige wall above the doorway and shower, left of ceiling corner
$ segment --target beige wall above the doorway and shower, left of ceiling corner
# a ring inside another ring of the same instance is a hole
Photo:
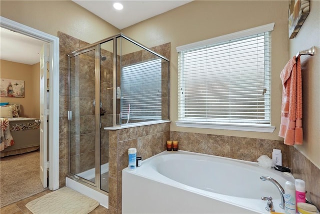
[[[0,1],[0,15],[57,36],[63,32],[87,43],[119,33],[119,30],[72,1]]]

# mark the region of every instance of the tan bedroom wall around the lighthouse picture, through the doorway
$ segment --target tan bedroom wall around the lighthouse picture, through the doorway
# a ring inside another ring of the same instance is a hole
[[[1,102],[21,104],[21,117],[39,118],[40,64],[26,65],[1,60],[1,78],[23,80],[24,98],[1,97]]]

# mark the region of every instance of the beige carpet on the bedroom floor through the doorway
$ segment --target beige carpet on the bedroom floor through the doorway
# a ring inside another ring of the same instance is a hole
[[[39,152],[0,159],[0,207],[46,190],[39,178]]]

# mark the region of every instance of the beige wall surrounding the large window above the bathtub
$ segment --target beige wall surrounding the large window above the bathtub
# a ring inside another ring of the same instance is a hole
[[[197,132],[216,135],[281,140],[280,72],[288,59],[286,1],[194,1],[122,30],[124,35],[147,47],[171,43],[170,119],[171,131]],[[177,120],[177,53],[176,47],[225,34],[275,23],[272,32],[272,91],[271,124],[273,133],[183,128]]]

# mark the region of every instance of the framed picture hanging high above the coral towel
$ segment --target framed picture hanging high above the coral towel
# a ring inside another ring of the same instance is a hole
[[[295,38],[310,13],[310,0],[291,0],[289,3],[289,39]]]

